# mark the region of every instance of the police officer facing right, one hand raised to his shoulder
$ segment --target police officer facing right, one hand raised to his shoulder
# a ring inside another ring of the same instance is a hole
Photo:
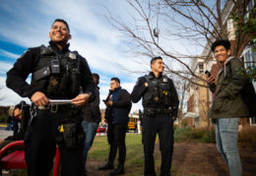
[[[143,97],[144,175],[156,175],[153,153],[157,133],[160,138],[160,175],[170,175],[173,122],[177,117],[179,100],[171,79],[162,75],[164,67],[161,57],[151,60],[151,69],[149,75],[138,79],[131,93],[133,102]]]

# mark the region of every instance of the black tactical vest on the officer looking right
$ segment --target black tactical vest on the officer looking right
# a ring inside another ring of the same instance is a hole
[[[157,79],[151,75],[146,75],[145,79],[149,86],[143,95],[143,106],[160,108],[171,106],[171,88],[168,78],[162,76]]]

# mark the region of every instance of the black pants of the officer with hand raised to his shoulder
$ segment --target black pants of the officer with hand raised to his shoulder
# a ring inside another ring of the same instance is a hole
[[[160,175],[169,176],[173,152],[173,120],[169,115],[160,114],[156,117],[143,118],[143,144],[145,168],[144,175],[156,175],[154,148],[157,133],[160,138],[161,165]]]

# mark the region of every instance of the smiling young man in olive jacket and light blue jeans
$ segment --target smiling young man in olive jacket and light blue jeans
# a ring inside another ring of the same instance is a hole
[[[246,83],[246,76],[240,71],[243,63],[230,56],[230,42],[220,39],[212,44],[215,58],[221,65],[217,84],[213,76],[208,78],[209,88],[215,93],[208,117],[216,119],[217,148],[224,157],[230,176],[241,176],[242,167],[237,149],[240,117],[248,116],[240,90]]]

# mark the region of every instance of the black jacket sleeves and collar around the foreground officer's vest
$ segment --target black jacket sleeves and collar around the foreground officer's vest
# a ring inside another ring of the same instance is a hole
[[[69,44],[63,50],[60,50],[52,41],[49,42],[50,47],[59,54],[69,52]],[[28,76],[34,72],[34,68],[38,63],[38,55],[40,47],[29,48],[14,64],[14,67],[7,73],[6,85],[23,97],[32,97],[35,91],[41,91],[32,87],[26,82]],[[80,55],[79,55],[80,56]],[[95,94],[95,83],[89,65],[85,58],[79,57],[81,63],[81,87],[83,92]]]

